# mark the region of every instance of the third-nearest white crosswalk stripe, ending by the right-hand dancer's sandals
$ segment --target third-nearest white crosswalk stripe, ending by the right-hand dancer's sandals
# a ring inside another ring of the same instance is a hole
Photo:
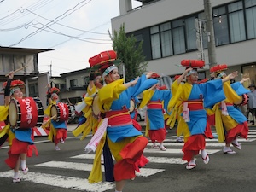
[[[152,151],[154,152],[154,151]],[[70,158],[73,159],[89,159],[89,160],[93,160],[95,157],[95,154],[79,154]],[[150,156],[146,156],[147,159],[149,160],[149,163],[166,163],[166,164],[184,164],[186,163],[184,160],[182,160],[181,158],[169,158],[169,157],[150,157]]]

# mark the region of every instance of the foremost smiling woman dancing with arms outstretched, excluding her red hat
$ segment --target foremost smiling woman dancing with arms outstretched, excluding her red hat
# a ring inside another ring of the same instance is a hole
[[[101,55],[99,58],[102,58]],[[131,98],[143,90],[147,90],[157,81],[149,79],[153,73],[147,73],[141,78],[124,84],[124,79],[120,79],[118,68],[113,66],[111,62],[108,65],[110,66],[102,73],[105,85],[98,92],[99,106],[105,118],[102,119],[94,137],[85,147],[85,151],[96,149],[96,158],[89,181],[90,183],[100,182],[102,177],[96,171],[101,170],[99,167],[100,154],[105,141],[107,141],[110,152],[116,160],[112,172],[116,182],[116,191],[120,192],[125,186],[125,180],[134,179],[136,177],[135,171],[139,172],[139,167],[148,163],[148,160],[143,156],[143,150],[147,146],[148,139],[143,137],[141,131],[132,125],[129,113],[130,101]]]

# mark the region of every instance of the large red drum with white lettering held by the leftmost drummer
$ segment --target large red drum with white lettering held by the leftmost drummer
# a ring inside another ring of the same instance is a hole
[[[38,97],[12,98],[9,102],[9,123],[15,129],[28,129],[41,126],[44,108]]]

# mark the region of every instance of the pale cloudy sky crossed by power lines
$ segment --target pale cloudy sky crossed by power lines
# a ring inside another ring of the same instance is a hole
[[[112,49],[108,29],[118,15],[119,0],[0,0],[0,46],[54,49],[39,54],[40,73],[50,65],[53,76],[76,71]]]

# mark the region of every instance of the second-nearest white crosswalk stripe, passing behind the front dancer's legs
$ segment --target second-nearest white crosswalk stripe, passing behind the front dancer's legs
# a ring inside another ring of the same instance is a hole
[[[79,171],[90,172],[92,170],[92,164],[88,163],[75,163],[75,162],[65,162],[65,161],[48,161],[45,163],[40,163],[35,166],[44,166],[44,167],[55,167],[61,169],[73,169]],[[141,168],[140,172],[137,172],[137,176],[148,177],[154,175],[158,172],[164,172],[164,169],[151,169],[151,168]],[[104,166],[102,166],[102,172],[104,172]]]

